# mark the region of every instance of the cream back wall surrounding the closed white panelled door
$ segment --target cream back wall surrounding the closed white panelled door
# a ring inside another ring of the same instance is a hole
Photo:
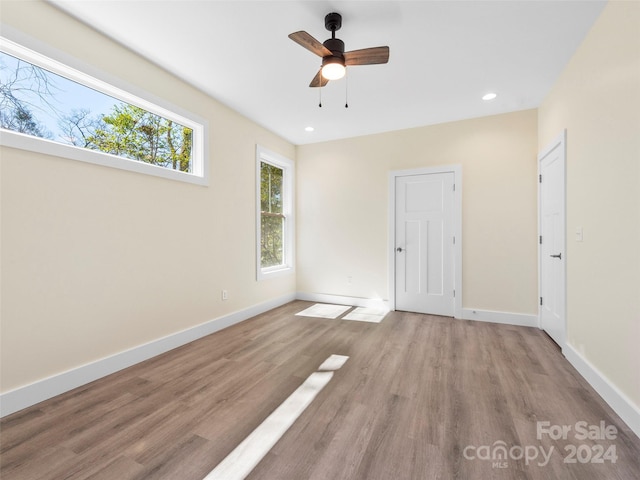
[[[460,164],[463,307],[536,314],[536,142],[528,110],[299,146],[298,290],[388,299],[389,172]]]

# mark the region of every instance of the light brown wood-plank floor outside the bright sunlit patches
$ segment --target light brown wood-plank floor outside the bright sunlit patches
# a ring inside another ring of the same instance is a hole
[[[380,324],[295,316],[310,305],[4,418],[0,477],[202,480],[338,354],[350,358],[248,479],[640,478],[640,440],[543,332],[403,312]],[[537,422],[572,430],[538,438]],[[616,438],[577,439],[576,422],[613,425]],[[496,442],[511,451],[500,465],[477,458]],[[564,462],[569,445],[576,463]],[[580,462],[599,446],[615,463]],[[528,464],[527,448],[538,452]]]

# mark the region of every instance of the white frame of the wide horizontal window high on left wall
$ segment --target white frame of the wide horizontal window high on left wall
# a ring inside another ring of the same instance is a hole
[[[209,185],[209,168],[207,161],[208,128],[206,120],[174,106],[165,100],[156,98],[146,91],[141,91],[139,88],[128,85],[120,79],[110,78],[104,72],[97,71],[79,60],[73,59],[51,47],[39,44],[37,41],[19,38],[20,43],[17,43],[8,38],[6,36],[7,33],[11,32],[3,31],[3,35],[0,36],[1,51],[79,83],[87,88],[97,90],[117,100],[140,107],[150,113],[192,129],[192,171],[181,172],[159,165],[152,165],[100,152],[98,150],[67,145],[54,140],[39,138],[2,128],[0,128],[0,145],[162,177],[169,180],[177,180],[202,186]],[[11,36],[20,37],[20,35],[16,34]],[[46,52],[46,54],[40,52]],[[85,72],[91,72],[91,74]]]

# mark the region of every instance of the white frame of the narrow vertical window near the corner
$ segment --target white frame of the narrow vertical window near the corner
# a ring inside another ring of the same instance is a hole
[[[282,215],[284,216],[284,234],[282,238],[282,264],[262,267],[262,205],[260,169],[262,163],[268,163],[282,169]],[[256,145],[256,277],[265,280],[290,273],[295,270],[295,216],[294,216],[294,163],[292,160]]]

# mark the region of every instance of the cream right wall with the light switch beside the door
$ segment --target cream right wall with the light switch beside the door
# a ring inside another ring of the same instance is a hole
[[[610,2],[539,109],[540,148],[567,129],[568,343],[637,407],[639,25],[640,3]]]

